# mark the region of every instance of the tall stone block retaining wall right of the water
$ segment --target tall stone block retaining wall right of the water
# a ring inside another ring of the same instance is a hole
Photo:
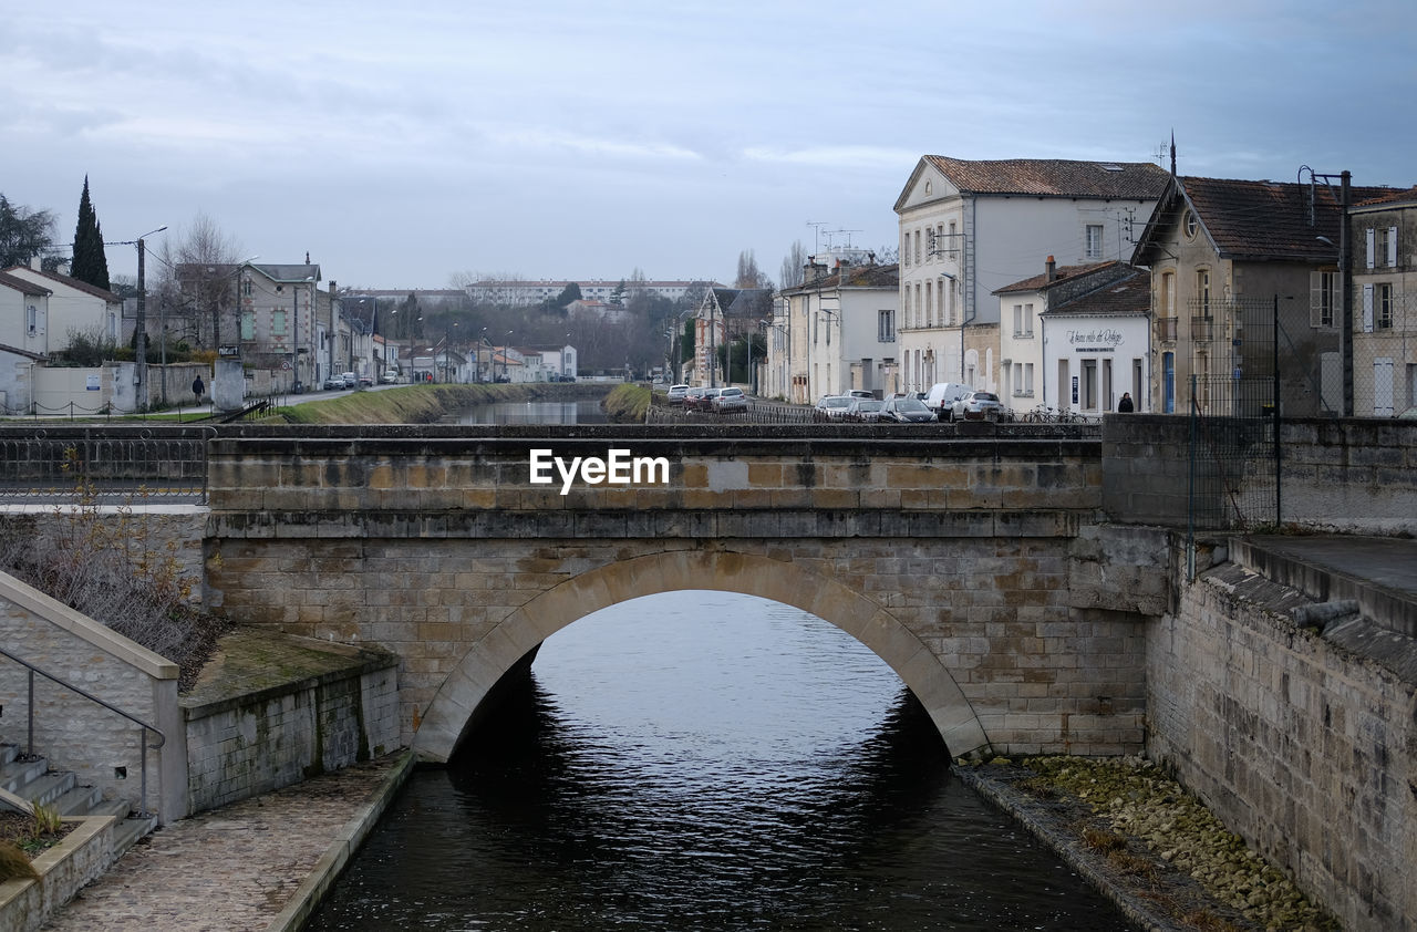
[[[1306,603],[1234,564],[1186,586],[1146,635],[1148,751],[1343,928],[1417,929],[1417,677],[1297,629]]]

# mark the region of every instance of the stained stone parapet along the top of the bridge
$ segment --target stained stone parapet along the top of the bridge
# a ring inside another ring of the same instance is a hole
[[[210,501],[222,535],[273,516],[282,537],[1073,535],[1100,514],[1097,439],[816,433],[242,432],[213,442]]]

